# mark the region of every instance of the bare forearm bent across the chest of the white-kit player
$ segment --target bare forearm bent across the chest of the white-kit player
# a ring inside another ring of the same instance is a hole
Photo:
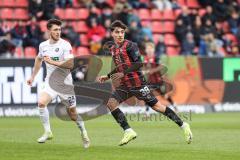
[[[65,61],[54,61],[52,60],[49,56],[44,56],[43,60],[51,65],[60,67],[60,68],[64,68],[64,69],[73,69],[74,67],[74,59],[70,58],[68,60]]]

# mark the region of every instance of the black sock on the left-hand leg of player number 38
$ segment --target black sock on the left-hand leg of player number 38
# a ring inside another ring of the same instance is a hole
[[[124,113],[119,108],[115,109],[111,113],[115,120],[120,124],[123,130],[130,128]]]

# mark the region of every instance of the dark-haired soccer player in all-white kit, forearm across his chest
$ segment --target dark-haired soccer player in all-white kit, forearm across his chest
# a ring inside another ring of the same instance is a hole
[[[44,127],[44,134],[37,140],[39,143],[44,143],[47,140],[53,138],[53,134],[50,128],[49,122],[49,112],[47,105],[57,96],[60,97],[63,104],[66,106],[67,112],[71,120],[75,121],[77,126],[81,131],[82,141],[84,148],[88,148],[90,145],[90,140],[87,135],[87,131],[84,126],[84,122],[81,119],[80,115],[76,111],[76,97],[74,89],[68,91],[67,93],[59,91],[64,91],[66,88],[69,90],[69,87],[66,87],[63,83],[72,85],[72,77],[70,69],[73,67],[73,63],[69,59],[73,58],[72,47],[69,42],[61,39],[61,24],[62,22],[57,19],[50,19],[47,23],[47,29],[49,33],[49,39],[42,42],[39,45],[39,53],[35,58],[34,69],[30,79],[28,79],[28,85],[32,85],[35,76],[37,75],[39,69],[41,68],[42,61],[46,63],[47,75],[45,78],[45,86],[41,91],[38,98],[38,109],[40,120]],[[67,63],[66,63],[67,62]],[[52,73],[57,73],[54,77],[54,81],[49,80]],[[61,79],[63,78],[63,79]],[[49,84],[54,84],[54,88]],[[59,83],[60,82],[60,83]],[[56,90],[57,88],[57,90]]]

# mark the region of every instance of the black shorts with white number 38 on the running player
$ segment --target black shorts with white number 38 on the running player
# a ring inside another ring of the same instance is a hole
[[[153,107],[158,102],[157,98],[153,95],[147,85],[134,88],[127,88],[125,86],[118,87],[111,95],[111,98],[116,99],[118,103],[122,103],[133,96],[139,100],[143,100],[147,105],[151,107]]]

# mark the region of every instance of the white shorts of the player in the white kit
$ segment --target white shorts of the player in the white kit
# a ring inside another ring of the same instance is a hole
[[[67,107],[72,108],[76,107],[76,96],[75,94],[62,94],[58,93],[57,91],[53,90],[48,83],[44,83],[43,89],[41,92],[47,93],[51,96],[52,100],[56,99],[58,96],[61,99],[61,102]],[[72,91],[74,93],[74,91]]]

